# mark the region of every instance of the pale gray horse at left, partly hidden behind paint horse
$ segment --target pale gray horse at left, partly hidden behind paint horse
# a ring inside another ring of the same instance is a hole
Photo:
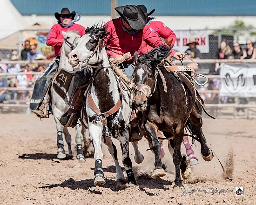
[[[72,66],[68,64],[68,54],[74,49],[77,44],[77,40],[81,37],[79,33],[74,31],[63,32],[64,41],[62,44],[61,50],[61,59],[59,64],[59,69],[64,67],[67,70],[73,71]],[[65,139],[68,146],[68,157],[72,157],[72,150],[71,150],[71,135],[69,134],[67,127],[63,127],[60,121],[57,119],[62,114],[67,112],[68,106],[65,104],[64,100],[54,91],[53,87],[51,86],[51,95],[52,95],[52,110],[54,115],[54,120],[56,122],[57,128],[57,158],[64,159],[66,158],[66,153],[64,150],[64,142],[62,138],[62,133],[65,135]],[[76,158],[82,161],[85,161],[85,157],[82,152],[82,139],[81,133],[85,139],[85,128],[80,125],[76,126],[76,134],[75,134],[75,142],[77,147],[77,155]]]

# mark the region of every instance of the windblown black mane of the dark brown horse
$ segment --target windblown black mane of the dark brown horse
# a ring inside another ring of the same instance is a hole
[[[171,47],[167,45],[157,46],[147,54],[142,54],[138,61],[155,70],[156,67],[162,67],[161,61],[170,55],[170,50]]]

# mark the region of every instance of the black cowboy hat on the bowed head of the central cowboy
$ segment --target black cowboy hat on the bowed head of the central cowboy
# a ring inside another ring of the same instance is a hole
[[[133,29],[140,30],[146,26],[146,16],[140,7],[126,5],[116,7],[115,10]]]

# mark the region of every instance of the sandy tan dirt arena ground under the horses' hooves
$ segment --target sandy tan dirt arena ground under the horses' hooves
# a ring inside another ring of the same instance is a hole
[[[208,145],[214,150],[227,172],[230,182],[223,177],[216,156],[203,161],[200,145],[195,154],[199,164],[192,166],[193,177],[183,185],[185,192],[173,192],[175,168],[164,142],[166,155],[162,160],[168,174],[162,179],[152,179],[154,156],[145,139],[139,142],[144,161],[136,164],[133,147],[130,156],[138,186],[128,186],[115,179],[114,161],[106,145],[102,145],[103,170],[107,182],[95,187],[94,159],[78,161],[72,138],[73,159],[56,158],[55,122],[53,116],[40,121],[33,114],[0,114],[0,204],[3,205],[141,205],[177,204],[254,205],[256,195],[256,119],[203,119],[203,132]],[[74,130],[70,129],[74,136]],[[117,141],[121,164],[121,149]],[[65,145],[67,151],[67,145]],[[182,145],[182,152],[185,153]],[[126,176],[126,172],[124,172]],[[236,195],[236,187],[244,188],[244,195]],[[216,191],[217,190],[217,191]],[[218,191],[220,190],[220,191]]]

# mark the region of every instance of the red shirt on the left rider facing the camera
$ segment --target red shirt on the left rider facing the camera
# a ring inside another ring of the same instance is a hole
[[[68,28],[63,28],[60,24],[55,24],[46,40],[46,44],[48,46],[54,46],[54,51],[55,51],[55,56],[60,56],[61,55],[61,46],[64,40],[64,36],[62,35],[62,31],[68,32],[68,31],[78,31],[81,36],[84,35],[85,28],[79,24],[73,24],[72,26]]]

